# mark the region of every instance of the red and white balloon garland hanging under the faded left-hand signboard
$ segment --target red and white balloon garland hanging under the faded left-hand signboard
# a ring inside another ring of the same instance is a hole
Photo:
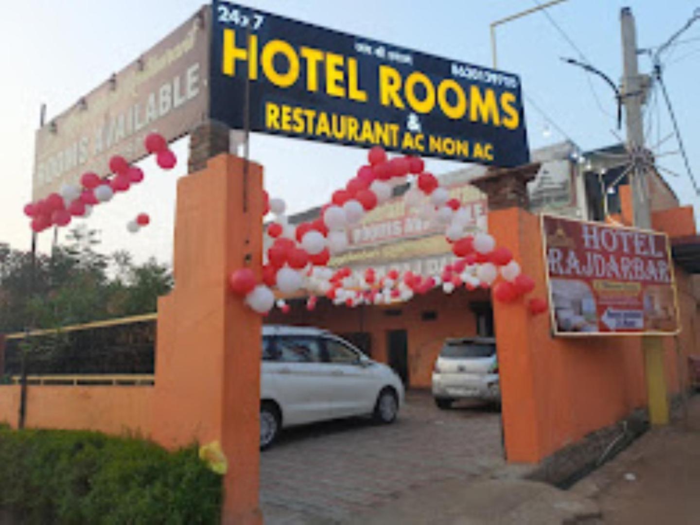
[[[144,146],[148,153],[156,155],[156,163],[162,169],[172,169],[177,164],[175,153],[169,149],[162,135],[148,134]],[[100,177],[93,172],[84,173],[80,176],[80,184],[64,184],[59,192],[26,204],[25,215],[31,219],[31,230],[39,233],[51,226],[64,228],[71,223],[73,217],[87,218],[94,206],[111,201],[117,193],[125,193],[134,184],[144,180],[141,168],[130,165],[121,155],[109,159],[109,171],[113,174],[111,178]],[[150,222],[148,214],[139,214],[127,223],[127,230],[138,232]]]

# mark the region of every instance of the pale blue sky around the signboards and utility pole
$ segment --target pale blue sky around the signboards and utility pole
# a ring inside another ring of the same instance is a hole
[[[316,25],[386,41],[462,62],[491,66],[489,25],[532,8],[535,0],[248,0],[259,8]],[[34,132],[39,107],[48,119],[64,111],[94,87],[123,69],[202,5],[197,0],[119,2],[62,0],[15,2],[0,18],[0,242],[26,249],[30,230],[22,207],[30,201]],[[622,75],[619,10],[632,8],[638,46],[660,45],[692,17],[697,0],[568,0],[542,12],[507,22],[497,29],[498,67],[517,73],[525,101],[532,149],[566,139],[582,150],[615,144],[615,101],[602,80],[565,64],[561,57],[585,59],[617,81]],[[557,29],[557,27],[559,29]],[[566,36],[563,36],[563,34]],[[700,20],[664,55],[664,79],[678,118],[689,165],[700,178]],[[640,72],[650,60],[640,56]],[[647,144],[671,133],[659,92],[645,113]],[[617,137],[616,137],[617,134]],[[87,219],[100,230],[102,251],[127,249],[137,260],[169,261],[176,179],[185,175],[187,139],[174,146],[179,156],[172,172],[142,164],[146,181]],[[700,209],[675,139],[656,148],[664,178],[682,204]],[[668,155],[666,155],[668,153]],[[282,197],[290,212],[322,204],[365,162],[366,151],[308,141],[253,135],[251,158],[265,167],[265,186]],[[431,160],[435,174],[460,167]],[[141,211],[152,223],[137,234],[125,226]],[[696,218],[699,216],[696,211]],[[50,246],[44,232],[39,246]]]

